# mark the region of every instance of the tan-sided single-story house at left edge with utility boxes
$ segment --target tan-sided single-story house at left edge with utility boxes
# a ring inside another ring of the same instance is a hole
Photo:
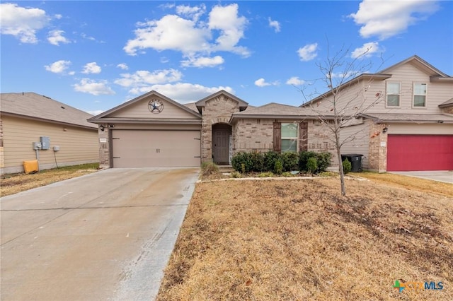
[[[98,126],[86,121],[93,115],[36,93],[0,96],[2,175],[23,172],[23,161],[37,157],[41,170],[98,162]]]

